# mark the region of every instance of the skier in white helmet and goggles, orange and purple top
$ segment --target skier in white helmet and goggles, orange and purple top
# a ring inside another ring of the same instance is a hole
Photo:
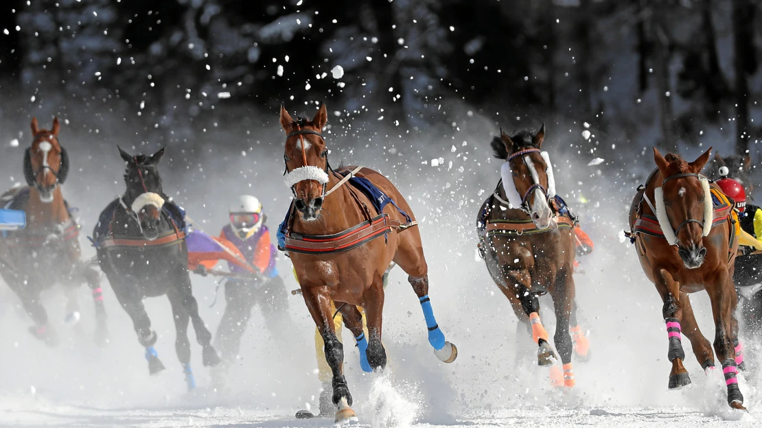
[[[287,290],[275,267],[277,251],[270,242],[262,211],[262,204],[254,196],[239,196],[230,206],[229,223],[219,234],[259,271],[256,276],[247,277],[246,270],[228,264],[230,272],[236,275],[225,284],[225,313],[215,336],[217,349],[227,362],[239,354],[241,337],[255,305],[260,306],[271,334],[285,334],[286,328],[293,326],[287,314]],[[287,317],[286,322],[283,317]]]

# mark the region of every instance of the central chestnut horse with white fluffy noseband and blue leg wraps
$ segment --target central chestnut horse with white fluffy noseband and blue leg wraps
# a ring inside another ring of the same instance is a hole
[[[383,369],[383,275],[392,261],[409,275],[408,282],[424,311],[434,354],[452,363],[457,350],[444,340],[434,319],[421,234],[414,227],[417,223],[405,197],[386,177],[369,168],[333,171],[321,134],[327,122],[324,104],[312,121],[301,117],[293,120],[280,107],[280,124],[287,134],[283,155],[286,183],[295,199],[279,235],[284,235],[283,247],[296,268],[304,302],[325,340],[325,358],[333,372],[333,402],[338,406],[336,422],[344,423],[356,416],[344,378],[344,348],[334,331],[331,301],[341,308],[344,324],[354,334],[360,352],[366,353],[370,366]],[[385,202],[382,212],[375,212],[373,201],[349,182],[353,176],[376,191],[374,199]],[[358,305],[367,315],[367,339]]]

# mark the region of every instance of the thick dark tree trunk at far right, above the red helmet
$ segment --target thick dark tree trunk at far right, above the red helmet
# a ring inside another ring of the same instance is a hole
[[[749,149],[748,75],[757,68],[754,56],[754,11],[748,0],[733,0],[733,68],[735,69],[735,152],[744,155]]]

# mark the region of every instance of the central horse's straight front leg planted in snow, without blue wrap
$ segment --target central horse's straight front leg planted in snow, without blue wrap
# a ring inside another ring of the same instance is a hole
[[[312,320],[325,343],[325,361],[331,367],[333,377],[333,404],[337,407],[335,422],[344,423],[357,420],[352,410],[352,395],[349,392],[347,378],[344,377],[344,347],[336,337],[333,314],[331,314],[331,293],[328,286],[302,285],[304,302],[312,315]]]

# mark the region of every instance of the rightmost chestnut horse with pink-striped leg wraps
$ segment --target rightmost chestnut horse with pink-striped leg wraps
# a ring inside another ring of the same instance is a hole
[[[683,366],[681,331],[690,339],[701,366],[714,369],[712,347],[701,334],[688,299],[688,293],[706,290],[712,302],[714,349],[725,374],[728,404],[743,409],[734,349],[734,343],[738,343],[738,297],[733,272],[739,223],[733,211],[734,201],[700,174],[711,151],[709,148],[695,161],[687,162],[671,153],[662,156],[654,149],[657,169],[632,200],[630,236],[643,272],[664,301],[661,312],[667,324],[668,359],[672,362],[669,388],[690,384]]]

